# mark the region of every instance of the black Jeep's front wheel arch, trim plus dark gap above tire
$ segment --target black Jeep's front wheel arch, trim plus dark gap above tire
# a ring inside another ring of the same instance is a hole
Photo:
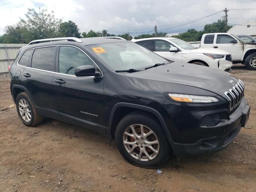
[[[125,111],[125,112],[120,113],[120,111]],[[138,105],[138,104],[130,104],[130,103],[115,104],[110,112],[107,134],[110,135],[112,138],[114,138],[117,124],[120,122],[120,120],[124,116],[126,116],[127,114],[130,114],[131,112],[134,112],[134,111],[140,111],[145,114],[148,114],[148,116],[151,116],[152,118],[155,118],[162,126],[162,128],[167,136],[167,139],[172,147],[172,144],[173,144],[172,136],[171,136],[170,131],[168,130],[166,123],[164,122],[164,119],[162,118],[161,114],[153,108]]]

